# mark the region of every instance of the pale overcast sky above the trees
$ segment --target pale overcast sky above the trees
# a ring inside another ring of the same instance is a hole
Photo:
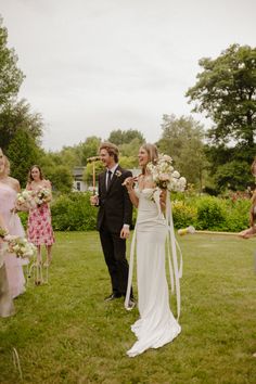
[[[0,0],[0,13],[46,150],[114,129],[158,140],[163,114],[191,113],[199,60],[256,42],[255,0]]]

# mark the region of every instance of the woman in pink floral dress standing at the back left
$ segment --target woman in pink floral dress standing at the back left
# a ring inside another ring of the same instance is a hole
[[[43,202],[39,202],[35,207],[29,209],[27,235],[28,240],[37,246],[37,261],[41,264],[41,245],[47,247],[47,261],[44,266],[49,266],[52,260],[52,244],[54,243],[54,234],[51,225],[51,210],[49,202],[51,201],[51,182],[46,180],[38,165],[34,165],[28,174],[28,183],[26,190],[38,192],[48,190],[49,196]]]

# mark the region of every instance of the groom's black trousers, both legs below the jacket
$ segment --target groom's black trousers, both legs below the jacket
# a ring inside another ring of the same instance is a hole
[[[105,221],[100,229],[100,239],[111,276],[112,291],[125,296],[129,272],[129,265],[126,259],[126,240],[120,239],[119,232],[113,232]]]

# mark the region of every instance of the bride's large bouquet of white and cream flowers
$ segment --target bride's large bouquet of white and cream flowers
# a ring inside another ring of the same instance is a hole
[[[184,191],[185,178],[180,177],[178,170],[172,167],[172,158],[168,155],[161,154],[156,162],[146,165],[148,170],[152,174],[153,181],[156,187],[168,191]]]

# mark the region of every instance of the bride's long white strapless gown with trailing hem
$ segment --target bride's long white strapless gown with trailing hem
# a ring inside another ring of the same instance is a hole
[[[130,357],[162,347],[181,331],[169,307],[165,270],[166,221],[153,199],[153,189],[137,189],[136,193],[139,197],[135,235],[140,319],[131,325],[138,341],[127,351]]]

